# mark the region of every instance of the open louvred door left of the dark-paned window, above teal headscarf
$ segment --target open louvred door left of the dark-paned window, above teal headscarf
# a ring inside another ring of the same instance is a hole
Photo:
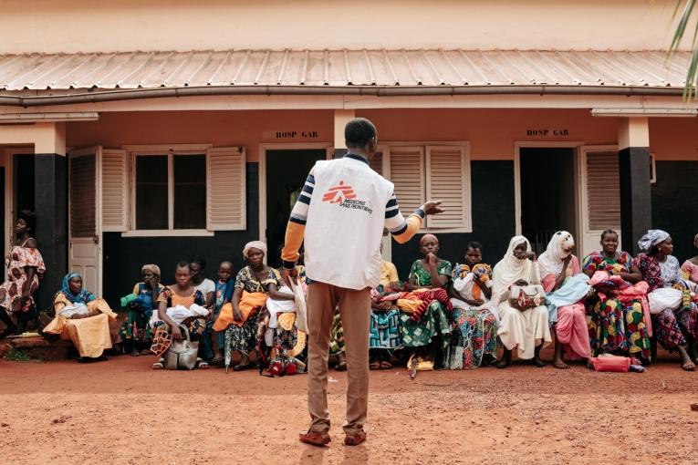
[[[83,286],[102,293],[101,147],[68,153],[68,267]]]

